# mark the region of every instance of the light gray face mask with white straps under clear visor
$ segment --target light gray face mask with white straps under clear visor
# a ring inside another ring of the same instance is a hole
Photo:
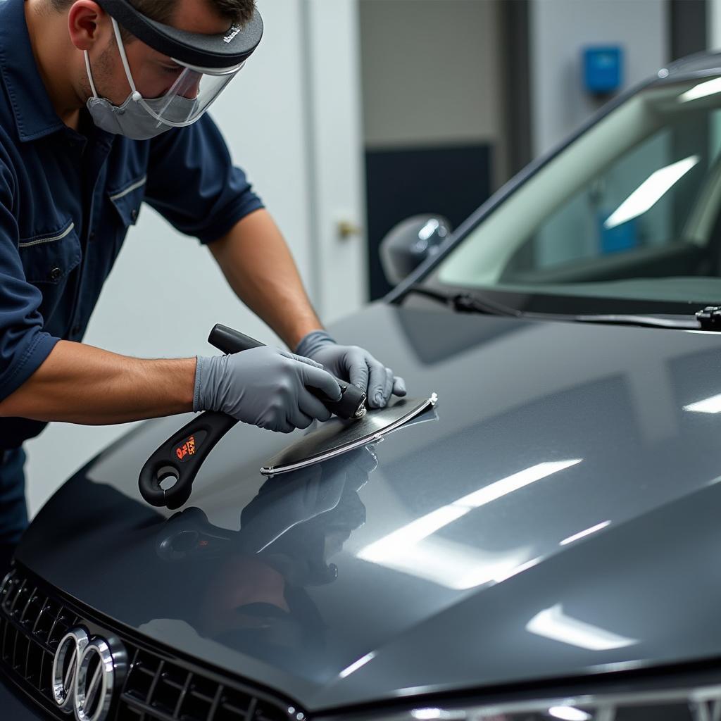
[[[195,123],[195,120],[203,115],[203,112],[208,109],[208,105],[218,96],[221,89],[242,67],[242,64],[234,66],[226,71],[214,72],[212,76],[205,75],[203,68],[186,67],[180,78],[163,97],[146,99],[135,87],[128,58],[125,56],[123,39],[120,37],[120,29],[115,18],[112,18],[112,26],[115,31],[115,40],[118,43],[120,59],[123,61],[125,76],[131,87],[131,93],[123,105],[112,105],[107,98],[99,97],[90,70],[90,58],[87,50],[84,51],[85,69],[93,94],[93,97],[87,100],[87,109],[93,123],[108,133],[115,133],[115,135],[122,135],[133,140],[148,140],[170,128]],[[207,97],[206,94],[202,105],[198,94],[195,94],[195,97],[185,97],[180,94],[182,88],[187,88],[189,84],[193,84],[196,89],[199,89],[200,79],[207,80],[205,85],[214,82],[211,88],[213,96]]]

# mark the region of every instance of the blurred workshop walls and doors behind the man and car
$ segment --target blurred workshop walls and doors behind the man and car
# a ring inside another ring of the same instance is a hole
[[[620,92],[721,47],[721,0],[258,5],[260,48],[211,114],[325,322],[387,291],[377,252],[397,221],[434,212],[456,226],[609,99],[588,92],[584,50],[620,50]],[[146,358],[212,354],[217,322],[277,342],[208,252],[143,207],[85,342]],[[30,512],[129,427],[53,423],[28,442]]]

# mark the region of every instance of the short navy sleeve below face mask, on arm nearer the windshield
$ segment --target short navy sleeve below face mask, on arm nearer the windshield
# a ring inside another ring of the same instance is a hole
[[[145,200],[174,228],[210,243],[262,208],[245,173],[234,167],[206,113],[197,123],[151,141]]]

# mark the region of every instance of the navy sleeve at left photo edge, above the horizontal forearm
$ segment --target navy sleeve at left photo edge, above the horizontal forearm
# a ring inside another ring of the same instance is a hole
[[[25,280],[12,213],[15,183],[0,153],[0,400],[37,371],[59,338],[43,331],[40,291]]]

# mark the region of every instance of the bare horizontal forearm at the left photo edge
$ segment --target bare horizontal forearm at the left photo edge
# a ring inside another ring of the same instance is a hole
[[[195,358],[147,361],[59,341],[0,417],[104,425],[193,410]]]

